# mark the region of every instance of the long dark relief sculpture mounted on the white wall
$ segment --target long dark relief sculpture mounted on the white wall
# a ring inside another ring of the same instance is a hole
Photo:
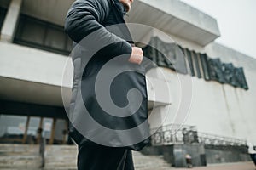
[[[243,69],[236,68],[232,63],[222,63],[220,59],[211,59],[207,54],[196,54],[195,51],[181,48],[176,43],[163,42],[159,37],[152,37],[143,51],[144,56],[158,66],[190,74],[192,77],[204,77],[207,81],[248,89]]]

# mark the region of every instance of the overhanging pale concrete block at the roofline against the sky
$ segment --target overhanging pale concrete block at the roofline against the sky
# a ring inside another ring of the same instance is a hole
[[[201,46],[220,36],[217,20],[179,0],[137,0],[126,20],[153,26]]]

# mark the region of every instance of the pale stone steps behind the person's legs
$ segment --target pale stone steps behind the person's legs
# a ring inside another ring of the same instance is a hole
[[[47,145],[45,149],[45,167],[40,168],[41,157],[38,145],[0,144],[1,170],[75,170],[77,147],[75,145]],[[133,152],[136,170],[170,170],[161,156],[143,156]]]

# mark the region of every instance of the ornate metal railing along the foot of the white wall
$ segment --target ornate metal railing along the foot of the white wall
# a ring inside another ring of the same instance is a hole
[[[152,145],[168,144],[193,144],[201,143],[217,146],[242,146],[247,145],[247,140],[224,137],[211,133],[197,132],[195,126],[188,125],[166,125],[151,129]]]

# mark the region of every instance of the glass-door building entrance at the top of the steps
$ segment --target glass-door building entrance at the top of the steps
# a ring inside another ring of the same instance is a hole
[[[44,116],[0,115],[0,143],[67,144],[67,120]]]

